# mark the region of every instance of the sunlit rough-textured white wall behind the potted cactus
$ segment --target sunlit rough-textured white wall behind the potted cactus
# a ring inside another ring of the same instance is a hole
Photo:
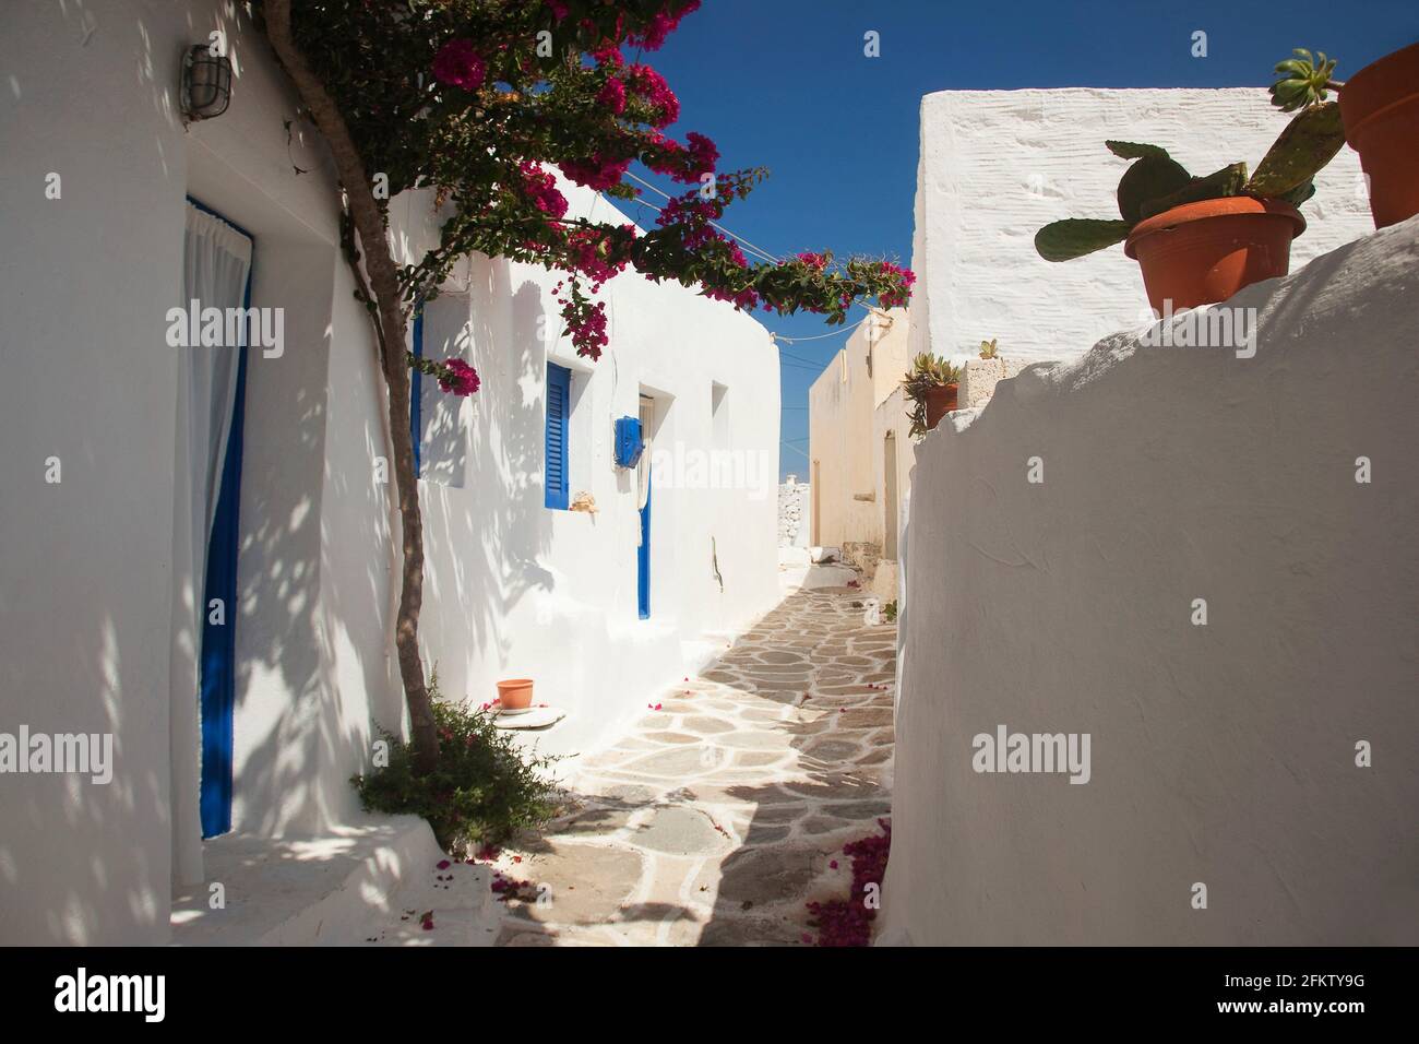
[[[973,357],[998,338],[1016,361],[1076,358],[1137,327],[1148,298],[1122,246],[1073,261],[1034,253],[1061,217],[1118,217],[1127,163],[1105,139],[1152,142],[1195,175],[1254,169],[1288,116],[1261,88],[941,91],[921,101],[912,354]],[[1301,212],[1293,268],[1372,229],[1359,158],[1341,149]]]

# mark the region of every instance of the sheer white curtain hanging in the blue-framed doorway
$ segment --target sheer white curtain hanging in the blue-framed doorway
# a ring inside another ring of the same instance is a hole
[[[183,236],[182,307],[241,308],[251,271],[251,240],[187,203]],[[192,322],[192,320],[189,320]],[[200,314],[197,317],[200,328]],[[226,322],[223,322],[226,328]],[[244,330],[244,327],[243,327]],[[207,543],[217,511],[221,466],[236,408],[237,345],[175,348],[177,358],[177,447],[173,473],[173,656],[172,811],[173,881],[203,879],[200,787],[201,625]],[[226,607],[227,621],[234,607]]]

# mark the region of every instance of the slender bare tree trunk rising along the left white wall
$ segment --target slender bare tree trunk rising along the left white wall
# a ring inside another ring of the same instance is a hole
[[[413,733],[414,768],[424,774],[438,764],[438,732],[434,727],[433,702],[424,683],[424,665],[419,656],[419,611],[424,601],[424,531],[419,511],[419,482],[414,474],[414,446],[409,430],[409,365],[404,358],[406,315],[399,293],[399,271],[385,234],[385,219],[365,172],[365,161],[355,148],[345,118],[325,91],[325,84],[305,62],[305,55],[291,34],[291,0],[265,0],[267,38],[287,75],[295,84],[311,119],[331,146],[335,169],[349,197],[350,216],[359,233],[369,273],[369,288],[377,305],[376,322],[385,341],[385,384],[389,389],[389,433],[394,456],[394,484],[399,490],[399,521],[403,531],[403,570],[399,591],[399,615],[394,621],[394,648],[399,675],[404,683],[409,720]]]

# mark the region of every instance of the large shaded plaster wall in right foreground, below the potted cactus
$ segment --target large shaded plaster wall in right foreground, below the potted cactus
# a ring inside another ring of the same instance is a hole
[[[1118,335],[917,450],[881,942],[1419,942],[1419,219],[1229,304],[1252,359]]]

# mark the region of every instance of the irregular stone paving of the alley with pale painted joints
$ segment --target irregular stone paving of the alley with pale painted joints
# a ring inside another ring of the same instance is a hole
[[[890,811],[897,628],[864,625],[861,599],[789,594],[614,746],[563,761],[568,811],[497,861],[551,902],[499,902],[498,943],[805,945],[805,903],[846,898],[843,845]]]

